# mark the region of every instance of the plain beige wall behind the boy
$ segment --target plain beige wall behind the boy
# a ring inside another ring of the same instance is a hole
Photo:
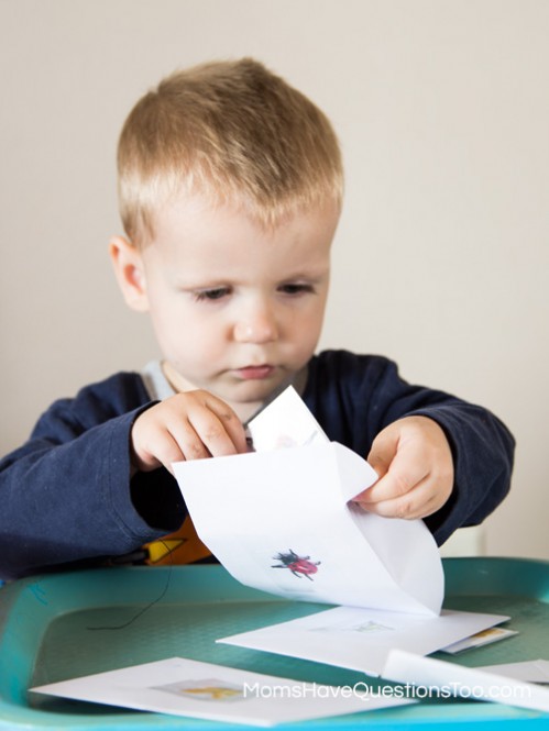
[[[157,355],[107,257],[136,99],[255,56],[347,168],[321,345],[381,353],[514,432],[490,554],[549,557],[549,2],[0,0],[0,451],[52,400]]]

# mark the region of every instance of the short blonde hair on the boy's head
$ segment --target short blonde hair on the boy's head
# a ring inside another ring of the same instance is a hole
[[[125,121],[118,170],[120,214],[133,243],[153,235],[155,211],[180,192],[237,202],[265,226],[342,199],[329,120],[251,58],[202,64],[161,81]]]

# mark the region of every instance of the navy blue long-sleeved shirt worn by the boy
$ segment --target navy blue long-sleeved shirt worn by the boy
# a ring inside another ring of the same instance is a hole
[[[391,361],[347,351],[314,356],[303,398],[330,440],[366,456],[407,416],[443,429],[454,459],[448,502],[425,519],[441,544],[482,522],[509,489],[514,440],[485,409],[411,386]],[[0,577],[131,553],[174,530],[187,511],[164,469],[131,477],[130,431],[151,406],[138,373],[119,373],[53,403],[29,441],[0,462]]]

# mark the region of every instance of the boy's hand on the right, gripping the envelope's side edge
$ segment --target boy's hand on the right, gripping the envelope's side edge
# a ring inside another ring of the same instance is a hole
[[[395,421],[375,438],[367,456],[380,475],[354,502],[387,518],[426,518],[453,487],[453,459],[442,429],[427,417]]]

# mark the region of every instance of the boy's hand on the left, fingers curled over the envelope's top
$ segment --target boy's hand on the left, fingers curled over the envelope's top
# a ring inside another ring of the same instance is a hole
[[[244,428],[234,411],[202,390],[177,394],[144,411],[131,431],[132,465],[151,472],[183,459],[246,451]]]

